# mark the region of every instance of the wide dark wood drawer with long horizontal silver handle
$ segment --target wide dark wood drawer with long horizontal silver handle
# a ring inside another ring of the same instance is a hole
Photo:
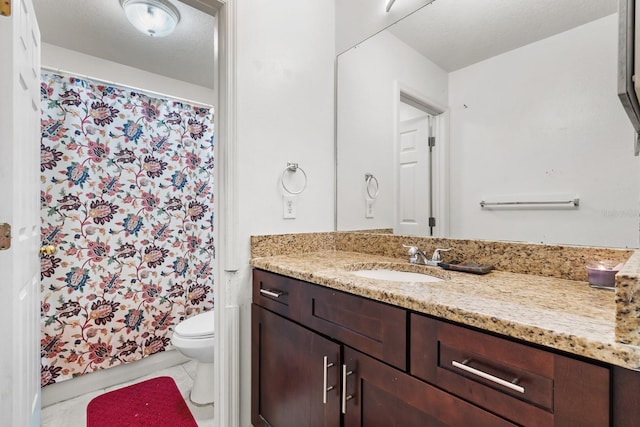
[[[608,425],[606,368],[417,314],[410,335],[413,375],[496,414],[523,425]]]

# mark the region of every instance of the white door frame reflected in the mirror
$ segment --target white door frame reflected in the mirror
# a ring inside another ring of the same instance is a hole
[[[434,117],[436,146],[434,148],[433,162],[433,213],[436,218],[436,227],[433,237],[449,237],[449,107],[440,104],[432,98],[424,95],[415,88],[400,80],[395,80],[393,85],[393,164],[394,164],[394,221],[398,222],[397,205],[398,174],[400,148],[400,104],[401,97],[410,98],[416,104],[423,106],[425,111]],[[434,114],[435,113],[435,114]]]

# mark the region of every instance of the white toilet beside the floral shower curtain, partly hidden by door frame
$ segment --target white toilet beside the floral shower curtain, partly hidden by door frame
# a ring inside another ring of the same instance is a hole
[[[209,310],[183,320],[171,338],[180,353],[198,362],[190,396],[197,405],[213,403],[213,313]]]

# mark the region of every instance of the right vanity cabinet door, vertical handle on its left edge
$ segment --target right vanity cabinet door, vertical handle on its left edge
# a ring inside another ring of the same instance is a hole
[[[345,427],[515,426],[348,347],[344,365]]]

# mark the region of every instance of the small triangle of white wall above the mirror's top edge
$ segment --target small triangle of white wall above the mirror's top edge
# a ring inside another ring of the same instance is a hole
[[[335,0],[336,54],[344,52],[432,1],[399,0],[387,13],[387,0]]]

